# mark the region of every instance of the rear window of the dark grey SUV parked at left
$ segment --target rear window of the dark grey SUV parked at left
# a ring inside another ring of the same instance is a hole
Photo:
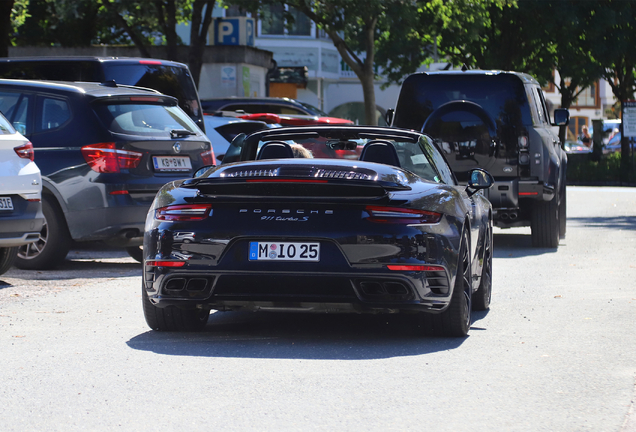
[[[103,104],[95,107],[103,124],[115,133],[166,137],[171,130],[200,134],[199,128],[179,107],[147,104]]]

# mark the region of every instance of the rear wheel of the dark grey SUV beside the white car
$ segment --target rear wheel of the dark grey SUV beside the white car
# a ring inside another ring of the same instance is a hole
[[[64,214],[57,202],[44,197],[42,199],[44,225],[40,238],[18,249],[15,266],[26,270],[48,270],[60,265],[71,249],[73,241],[66,226]]]

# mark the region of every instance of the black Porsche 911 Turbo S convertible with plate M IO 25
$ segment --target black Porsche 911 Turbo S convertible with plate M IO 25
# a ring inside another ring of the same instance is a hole
[[[236,162],[231,162],[236,161]],[[228,163],[229,162],[229,163]],[[144,237],[150,328],[201,330],[210,310],[413,313],[465,336],[489,307],[492,209],[426,135],[315,126],[237,136],[223,164],[165,185]]]

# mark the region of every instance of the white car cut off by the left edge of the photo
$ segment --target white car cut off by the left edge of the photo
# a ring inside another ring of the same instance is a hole
[[[33,145],[0,114],[0,274],[5,273],[18,247],[40,238],[42,178],[33,162]]]

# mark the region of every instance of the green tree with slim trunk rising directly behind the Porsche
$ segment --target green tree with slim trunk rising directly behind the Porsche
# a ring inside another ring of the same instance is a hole
[[[408,0],[227,0],[245,10],[263,11],[286,4],[304,13],[333,41],[343,61],[360,79],[367,124],[377,124],[376,71],[383,69],[397,82],[429,56],[428,31],[422,27],[425,9]],[[267,16],[265,14],[265,16]],[[293,20],[292,14],[287,20]],[[399,24],[398,24],[399,23]]]

